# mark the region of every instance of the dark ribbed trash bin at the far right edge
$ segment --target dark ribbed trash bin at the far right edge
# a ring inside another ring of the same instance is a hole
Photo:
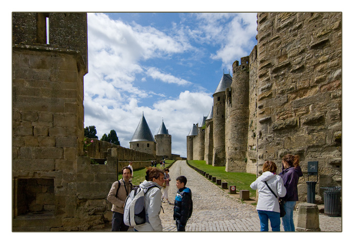
[[[341,186],[321,187],[324,189],[325,215],[341,216],[340,191]]]

